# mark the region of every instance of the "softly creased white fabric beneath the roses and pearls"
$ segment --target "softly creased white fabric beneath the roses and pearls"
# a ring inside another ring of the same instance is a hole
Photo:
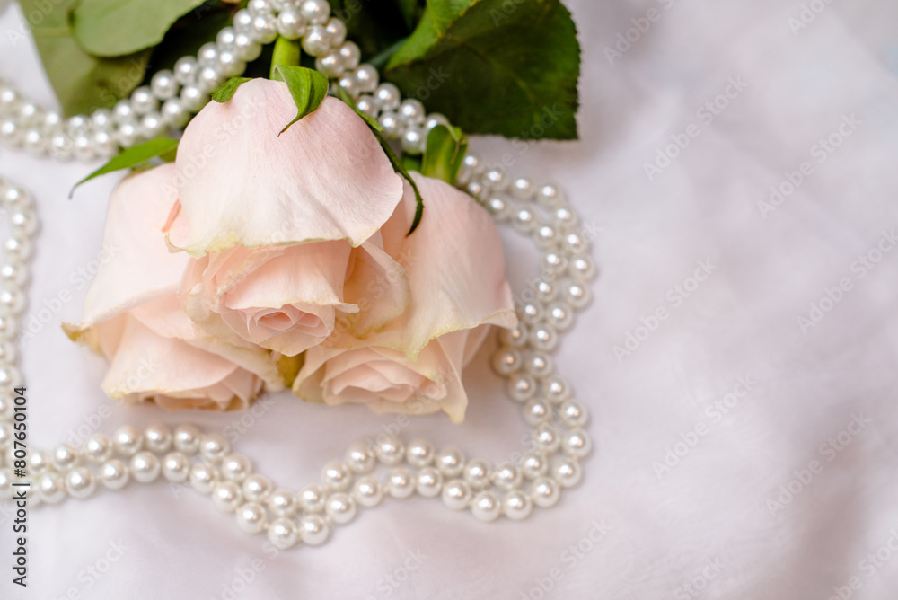
[[[596,452],[583,484],[524,523],[481,524],[433,500],[388,500],[325,546],[276,558],[192,490],[131,485],[32,512],[31,587],[8,591],[11,559],[3,551],[0,596],[228,598],[237,571],[259,560],[260,572],[233,597],[824,600],[852,577],[860,584],[852,597],[894,597],[898,558],[867,556],[898,542],[898,251],[864,278],[851,264],[898,226],[898,6],[817,0],[823,13],[794,34],[788,20],[799,16],[798,0],[568,4],[584,47],[581,141],[510,151],[515,171],[562,181],[585,222],[600,229],[594,304],[558,354],[592,411]],[[652,7],[660,19],[610,65],[603,48]],[[15,9],[0,18],[0,74],[49,103],[31,44],[10,38],[19,23]],[[730,77],[747,87],[711,124],[700,121],[696,111]],[[814,144],[844,115],[861,124],[817,163]],[[690,124],[700,136],[648,181],[644,163]],[[475,147],[496,159],[512,146],[479,139]],[[803,161],[813,174],[764,218],[757,202]],[[44,224],[31,313],[60,290],[75,296],[23,350],[31,442],[49,446],[110,404],[99,389],[102,361],[69,343],[57,321],[79,315],[84,289],[72,274],[97,254],[115,178],[70,201],[67,191],[91,167],[5,148],[0,167],[35,190]],[[535,253],[507,238],[520,288],[535,274]],[[699,260],[716,269],[674,305],[668,290]],[[841,278],[850,279],[850,291],[800,331],[797,317]],[[612,347],[658,307],[670,317],[619,361]],[[468,374],[463,425],[417,419],[403,435],[495,460],[519,451],[524,424],[488,357],[481,352]],[[756,382],[751,392],[712,420],[706,409],[746,374]],[[272,400],[238,447],[293,488],[316,479],[348,442],[394,422],[359,408]],[[853,415],[871,422],[840,452],[822,448]],[[222,429],[238,418],[113,407],[100,428],[191,419]],[[706,435],[659,478],[653,463],[699,424]],[[814,460],[823,471],[771,510],[780,486]],[[608,527],[599,543],[588,541],[594,523]],[[4,517],[4,548],[10,529]],[[87,576],[110,543],[125,546],[120,560],[99,579]],[[577,544],[587,551],[566,553]],[[403,571],[409,552],[419,563]],[[544,594],[539,582],[553,573],[560,577]],[[384,579],[391,575],[404,580],[392,587]],[[701,589],[685,588],[690,582]]]

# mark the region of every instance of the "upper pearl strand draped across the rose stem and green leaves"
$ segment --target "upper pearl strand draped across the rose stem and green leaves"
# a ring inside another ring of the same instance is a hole
[[[111,110],[62,119],[0,80],[0,142],[57,160],[110,157],[120,147],[183,127],[216,87],[241,75],[246,63],[259,57],[262,45],[278,35],[302,40],[316,68],[357,99],[362,110],[379,115],[386,135],[401,138],[406,152],[423,152],[428,128],[445,122],[436,113],[427,118],[420,101],[401,101],[395,85],[378,85],[377,69],[359,65],[358,46],[346,40],[346,26],[330,16],[327,0],[252,0],[235,13],[233,26],[219,31],[196,57],[182,57],[173,70],[159,71],[150,85],[136,88]]]

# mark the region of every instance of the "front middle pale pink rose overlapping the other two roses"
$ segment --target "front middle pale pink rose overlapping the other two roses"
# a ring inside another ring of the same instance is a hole
[[[194,257],[180,288],[189,317],[286,356],[338,322],[360,335],[383,327],[409,296],[378,234],[402,183],[376,138],[334,98],[280,134],[295,113],[286,84],[261,79],[210,102],[178,148],[170,235]],[[388,276],[383,296],[362,305]]]

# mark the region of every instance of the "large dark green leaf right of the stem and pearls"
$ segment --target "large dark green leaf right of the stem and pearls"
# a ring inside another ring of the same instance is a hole
[[[428,0],[383,75],[469,134],[573,139],[579,74],[559,0]]]

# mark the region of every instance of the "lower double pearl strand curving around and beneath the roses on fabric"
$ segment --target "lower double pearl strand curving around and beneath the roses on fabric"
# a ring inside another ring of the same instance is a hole
[[[533,449],[518,463],[490,466],[480,459],[466,461],[458,449],[437,451],[426,440],[407,445],[398,437],[383,437],[349,446],[342,461],[325,465],[321,482],[294,491],[276,489],[269,477],[253,472],[250,460],[232,453],[219,434],[203,433],[192,425],[181,425],[173,432],[163,425],[144,431],[125,426],[111,439],[94,434],[82,447],[63,444],[52,452],[31,450],[27,468],[30,478],[37,478],[29,495],[31,506],[56,504],[66,496],[88,498],[98,482],[119,490],[130,479],[145,483],[162,477],[210,494],[220,511],[235,514],[244,531],[266,532],[282,549],[296,543],[323,543],[333,527],[356,516],[358,507],[377,506],[385,496],[401,499],[417,492],[440,497],[447,507],[470,509],[483,521],[500,516],[520,520],[529,516],[534,506],[554,506],[563,488],[580,481],[579,461],[589,454],[592,444],[584,431],[586,410],[571,398],[568,383],[556,375],[551,352],[572,324],[573,313],[588,302],[587,283],[594,276],[594,267],[587,243],[569,247],[563,242],[569,235],[578,235],[577,221],[556,187],[542,186],[534,193],[523,178],[508,185],[502,172],[483,170],[474,155],[467,156],[465,164],[462,177],[466,187],[476,183],[482,191],[489,191],[488,207],[497,212],[499,220],[514,215],[516,224],[531,224],[516,228],[531,234],[542,250],[542,277],[533,283],[530,297],[522,295],[518,307],[522,323],[514,331],[500,334],[500,348],[493,359],[497,373],[508,378],[510,397],[523,404],[524,419],[533,425]],[[500,200],[505,205],[497,210]],[[11,211],[10,239],[15,241],[4,247],[30,248],[37,231],[30,195],[0,181],[0,203]],[[537,222],[542,225],[533,225]],[[541,233],[544,227],[558,232],[553,243]],[[0,268],[4,281],[14,281],[9,288],[12,296],[0,294],[4,306],[0,386],[4,390],[22,384],[15,366],[15,320],[25,309],[30,252],[16,255],[13,261],[9,256],[7,253],[8,262]],[[12,426],[13,401],[4,393],[0,396],[0,448],[6,466],[0,468],[0,497],[6,498],[13,491],[16,460]],[[374,475],[378,464],[386,470],[383,479]]]

